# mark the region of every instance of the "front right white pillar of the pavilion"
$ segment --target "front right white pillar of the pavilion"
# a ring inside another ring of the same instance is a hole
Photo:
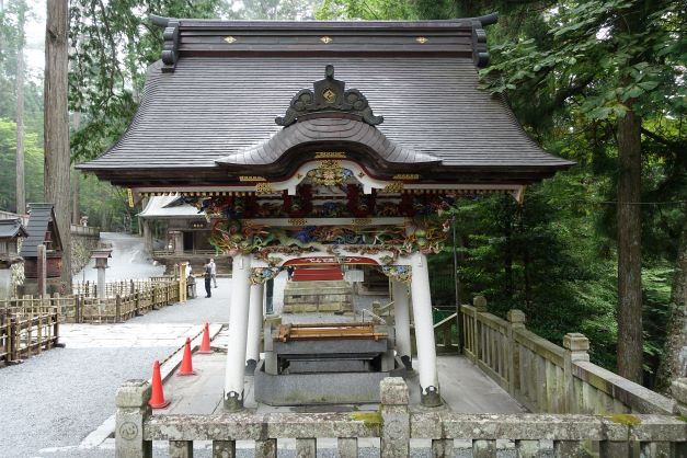
[[[436,373],[436,346],[434,344],[434,322],[432,320],[432,297],[427,256],[413,253],[411,291],[413,296],[413,318],[415,319],[415,345],[417,346],[417,373],[420,376],[421,401],[423,405],[440,405],[439,380]]]

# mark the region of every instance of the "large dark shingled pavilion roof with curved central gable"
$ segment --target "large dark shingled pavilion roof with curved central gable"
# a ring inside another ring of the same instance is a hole
[[[482,27],[495,16],[154,20],[167,26],[164,51],[148,70],[131,125],[103,156],[79,165],[115,184],[279,176],[313,148],[357,148],[382,175],[424,170],[466,182],[528,184],[572,164],[543,151],[501,99],[479,88],[477,70],[489,57]],[[370,124],[351,110],[316,110],[277,124],[304,91],[324,81],[328,66],[383,122]],[[295,150],[296,160],[289,156]]]

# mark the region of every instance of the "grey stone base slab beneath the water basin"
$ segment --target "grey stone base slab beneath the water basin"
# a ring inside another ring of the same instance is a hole
[[[396,371],[270,375],[255,368],[255,401],[267,405],[376,403],[379,382]]]

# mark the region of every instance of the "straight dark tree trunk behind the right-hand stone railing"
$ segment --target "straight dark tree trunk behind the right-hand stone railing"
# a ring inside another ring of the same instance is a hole
[[[632,110],[618,119],[618,374],[638,383],[643,355],[641,126]]]

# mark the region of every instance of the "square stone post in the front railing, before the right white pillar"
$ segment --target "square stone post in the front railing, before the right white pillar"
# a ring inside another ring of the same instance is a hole
[[[401,377],[379,382],[381,398],[381,458],[410,456],[410,412],[408,386]]]

